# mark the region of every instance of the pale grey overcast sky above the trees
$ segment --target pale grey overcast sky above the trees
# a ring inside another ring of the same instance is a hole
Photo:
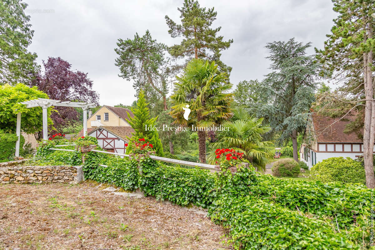
[[[132,82],[118,76],[114,52],[118,38],[133,38],[150,30],[158,42],[166,45],[181,39],[168,34],[164,16],[179,22],[182,0],[24,0],[31,16],[34,37],[29,46],[38,55],[37,63],[48,57],[61,57],[72,69],[88,73],[101,105],[130,105],[135,90]],[[295,37],[322,48],[333,25],[330,0],[201,0],[201,6],[215,7],[222,26],[220,35],[234,39],[222,52],[222,61],[232,66],[231,82],[263,79],[270,72],[268,51],[264,46],[275,40]]]

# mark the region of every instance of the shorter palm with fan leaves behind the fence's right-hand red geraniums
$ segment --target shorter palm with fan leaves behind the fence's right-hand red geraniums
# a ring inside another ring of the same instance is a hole
[[[262,141],[262,135],[271,128],[262,125],[263,118],[251,117],[243,108],[235,109],[233,114],[231,121],[222,124],[229,128],[228,131],[220,132],[217,141],[211,144],[209,162],[215,163],[216,148],[233,148],[236,152],[244,153],[244,158],[263,172],[266,164],[273,159],[273,142]]]

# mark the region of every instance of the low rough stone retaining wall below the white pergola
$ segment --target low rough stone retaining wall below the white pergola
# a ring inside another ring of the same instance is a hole
[[[78,175],[77,175],[78,170]],[[0,183],[51,183],[81,181],[82,166],[6,166]]]

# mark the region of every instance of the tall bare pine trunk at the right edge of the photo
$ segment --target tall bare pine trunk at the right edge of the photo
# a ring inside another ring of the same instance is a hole
[[[371,32],[369,32],[371,35]],[[372,82],[372,72],[369,64],[372,62],[372,51],[363,53],[363,69],[365,84],[365,126],[363,131],[363,158],[365,164],[366,186],[375,188],[374,176],[374,139],[375,139],[375,102],[374,102],[374,86]]]

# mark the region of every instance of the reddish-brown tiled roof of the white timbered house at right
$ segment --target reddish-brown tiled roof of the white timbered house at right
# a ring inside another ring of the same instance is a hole
[[[339,118],[312,114],[317,142],[362,143],[363,140],[356,133],[344,133],[347,124],[354,121],[356,114],[348,114],[341,120]],[[359,132],[363,135],[363,129],[360,129]]]

